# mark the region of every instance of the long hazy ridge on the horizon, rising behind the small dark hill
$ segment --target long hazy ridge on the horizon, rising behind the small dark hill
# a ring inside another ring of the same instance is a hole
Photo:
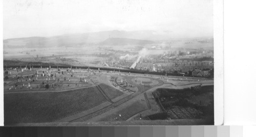
[[[111,38],[110,38],[111,37]],[[53,37],[28,37],[4,40],[4,48],[66,47],[86,44],[130,45],[150,44],[157,35],[154,31],[105,31],[67,34]],[[110,38],[110,39],[109,39]],[[114,39],[112,39],[114,38]],[[123,38],[123,39],[121,39]],[[143,40],[140,40],[143,39]]]

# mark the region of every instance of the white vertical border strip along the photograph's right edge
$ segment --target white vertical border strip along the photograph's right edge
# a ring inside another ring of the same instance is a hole
[[[214,1],[214,121],[224,123],[223,0]]]

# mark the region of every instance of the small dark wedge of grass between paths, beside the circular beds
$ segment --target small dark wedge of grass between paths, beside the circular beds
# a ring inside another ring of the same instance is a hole
[[[99,84],[99,85],[105,91],[105,93],[109,95],[110,99],[114,99],[123,94],[123,92],[121,92],[118,89],[115,89],[111,86],[108,86],[105,84]]]

